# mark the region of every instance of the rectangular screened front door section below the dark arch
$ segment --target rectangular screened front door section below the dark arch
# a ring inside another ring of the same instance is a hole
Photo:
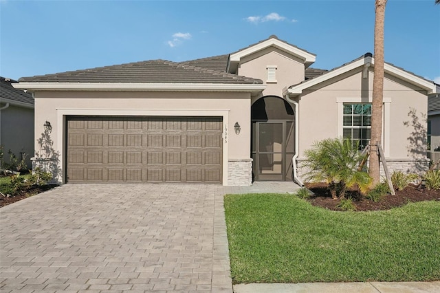
[[[293,125],[285,120],[252,122],[254,180],[292,180]]]

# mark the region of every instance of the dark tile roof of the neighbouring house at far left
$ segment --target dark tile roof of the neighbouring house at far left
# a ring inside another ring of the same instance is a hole
[[[0,77],[0,100],[4,103],[10,103],[21,107],[34,108],[34,99],[28,93],[21,89],[14,89],[12,83],[18,83],[17,80]]]

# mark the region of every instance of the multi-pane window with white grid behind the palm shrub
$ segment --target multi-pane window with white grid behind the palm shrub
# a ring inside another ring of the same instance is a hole
[[[342,137],[364,149],[371,140],[371,103],[344,103]]]

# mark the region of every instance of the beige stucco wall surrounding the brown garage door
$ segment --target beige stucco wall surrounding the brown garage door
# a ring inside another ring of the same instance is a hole
[[[223,127],[223,146],[228,150],[225,160],[250,158],[250,93],[41,91],[35,93],[35,109],[35,141],[43,136],[45,121],[50,121],[53,148],[61,154],[63,138],[58,136],[63,135],[60,129],[63,113],[102,113],[104,116],[109,113],[126,116],[220,116],[219,113],[225,113],[223,123],[227,122],[227,129],[225,133]],[[241,125],[239,135],[234,133],[235,122]],[[63,164],[63,155],[61,157]],[[223,170],[223,174],[227,173]]]

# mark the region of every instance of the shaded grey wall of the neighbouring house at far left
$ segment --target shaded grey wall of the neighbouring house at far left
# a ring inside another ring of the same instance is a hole
[[[23,152],[27,155],[25,161],[30,169],[30,158],[34,156],[34,109],[10,105],[0,110],[0,129],[4,160],[9,162],[8,150],[17,155],[19,160]]]

